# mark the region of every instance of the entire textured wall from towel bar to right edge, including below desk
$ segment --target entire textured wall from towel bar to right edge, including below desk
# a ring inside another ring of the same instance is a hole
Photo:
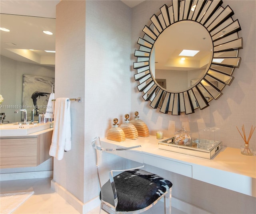
[[[163,128],[165,136],[172,136],[182,124],[193,134],[200,127],[216,126],[221,129],[220,137],[224,144],[239,147],[241,143],[235,126],[255,125],[255,23],[248,22],[255,20],[254,1],[246,2],[248,4],[228,1],[235,12],[234,18],[238,18],[242,26],[240,36],[244,37],[244,49],[240,51],[243,61],[240,69],[235,70],[234,82],[226,86],[224,95],[218,101],[212,101],[210,107],[196,110],[195,114],[188,116],[162,114],[151,108],[138,92],[133,76],[136,71],[132,69],[132,61],[135,61],[133,54],[138,48],[138,37],[143,36],[142,29],[152,14],[158,13],[159,8],[169,1],[150,0],[133,9],[120,1],[84,3],[62,1],[57,6],[56,97],[82,96],[83,100],[82,103],[71,104],[72,150],[64,155],[62,161],[54,161],[54,180],[57,183],[82,202],[98,196],[91,141],[95,136],[106,136],[113,118],[117,117],[122,123],[124,114],[133,116],[137,110],[151,134]],[[255,198],[232,191],[224,195],[226,191],[223,188],[150,166],[147,169],[174,181],[174,196],[211,212],[240,212],[244,208],[241,204],[244,200],[250,202],[249,212],[255,208],[251,205]],[[208,188],[209,192],[204,192],[201,187]],[[215,196],[219,196],[216,202],[211,200],[215,189]],[[210,200],[205,200],[207,197]],[[231,205],[237,198],[242,199],[237,205],[239,209]],[[224,199],[228,206],[216,208]]]

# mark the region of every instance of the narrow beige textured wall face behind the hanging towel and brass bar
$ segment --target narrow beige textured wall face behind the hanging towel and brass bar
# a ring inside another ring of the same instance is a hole
[[[56,6],[55,98],[71,101],[72,149],[54,159],[54,181],[83,201],[85,106],[85,2],[61,1]]]

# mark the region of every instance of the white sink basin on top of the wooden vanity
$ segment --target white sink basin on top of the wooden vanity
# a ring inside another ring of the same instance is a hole
[[[0,125],[0,135],[27,135],[50,128],[50,124],[2,124]]]

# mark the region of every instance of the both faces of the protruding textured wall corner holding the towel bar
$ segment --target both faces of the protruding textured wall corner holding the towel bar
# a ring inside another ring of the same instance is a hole
[[[81,202],[98,197],[91,141],[130,113],[131,9],[120,1],[61,1],[56,7],[55,96],[71,103],[72,149],[54,159],[54,181]]]

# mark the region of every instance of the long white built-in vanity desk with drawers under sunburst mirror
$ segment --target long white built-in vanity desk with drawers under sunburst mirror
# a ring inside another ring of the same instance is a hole
[[[204,159],[158,149],[159,140],[152,135],[124,142],[100,140],[105,148],[142,145],[145,164],[256,197],[256,156],[242,155],[240,149],[223,147],[213,159]]]

